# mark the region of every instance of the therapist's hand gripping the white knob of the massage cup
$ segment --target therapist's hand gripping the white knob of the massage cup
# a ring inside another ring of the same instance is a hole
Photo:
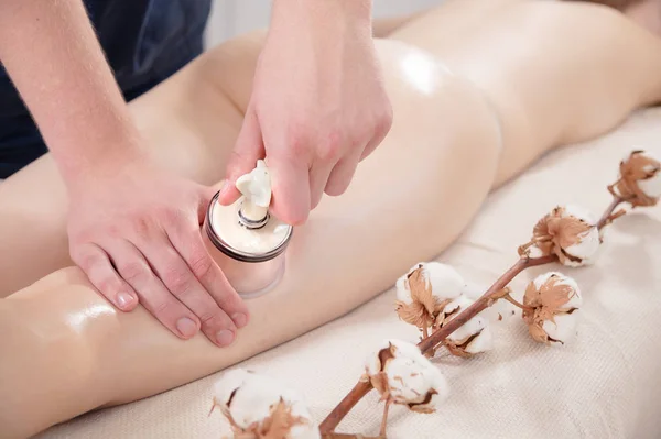
[[[299,224],[324,193],[343,194],[390,130],[371,36],[371,2],[275,0],[220,202],[267,157],[273,213]]]

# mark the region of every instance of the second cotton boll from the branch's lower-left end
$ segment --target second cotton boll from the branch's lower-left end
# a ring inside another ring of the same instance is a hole
[[[365,378],[382,399],[432,413],[448,396],[447,381],[420,349],[401,340],[387,340],[366,360]]]

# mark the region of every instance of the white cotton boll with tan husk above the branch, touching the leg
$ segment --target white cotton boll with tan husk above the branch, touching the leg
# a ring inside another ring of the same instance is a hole
[[[466,284],[449,265],[420,263],[397,281],[397,314],[408,323],[426,329]]]

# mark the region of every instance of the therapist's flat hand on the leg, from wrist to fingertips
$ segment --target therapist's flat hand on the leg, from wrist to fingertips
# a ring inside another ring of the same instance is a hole
[[[138,303],[182,339],[232,342],[248,311],[209,256],[208,187],[132,162],[69,182],[73,261],[123,311]]]

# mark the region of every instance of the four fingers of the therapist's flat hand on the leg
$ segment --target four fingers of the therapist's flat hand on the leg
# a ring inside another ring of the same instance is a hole
[[[201,187],[198,205],[207,202],[207,189]],[[76,246],[72,257],[119,309],[140,301],[175,336],[189,339],[202,330],[225,347],[247,325],[248,310],[207,253],[197,222],[182,216],[127,239],[106,237],[98,245]]]

